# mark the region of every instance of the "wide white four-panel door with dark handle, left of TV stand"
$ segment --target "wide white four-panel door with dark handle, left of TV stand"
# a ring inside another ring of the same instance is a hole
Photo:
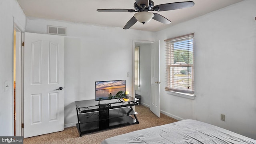
[[[64,130],[64,37],[25,33],[24,138]],[[61,88],[60,88],[61,89]]]

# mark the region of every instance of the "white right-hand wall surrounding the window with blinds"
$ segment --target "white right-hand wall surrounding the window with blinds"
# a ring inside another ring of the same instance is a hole
[[[164,39],[195,33],[195,100],[166,94],[161,110],[256,139],[256,1],[244,0],[157,32],[161,63]],[[161,65],[161,82],[165,66]],[[226,115],[226,121],[220,120]]]

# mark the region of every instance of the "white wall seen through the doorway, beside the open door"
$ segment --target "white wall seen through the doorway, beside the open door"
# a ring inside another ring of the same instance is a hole
[[[151,97],[151,46],[152,44],[135,44],[135,47],[140,47],[140,87],[136,90],[136,94],[141,95],[141,103],[150,106]]]

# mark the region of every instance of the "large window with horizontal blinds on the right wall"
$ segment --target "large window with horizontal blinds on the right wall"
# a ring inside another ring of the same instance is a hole
[[[167,91],[194,94],[194,33],[166,42]]]

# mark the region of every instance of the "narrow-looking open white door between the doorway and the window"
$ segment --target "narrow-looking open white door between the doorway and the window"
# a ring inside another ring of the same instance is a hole
[[[159,70],[160,70],[160,42],[154,42],[151,48],[151,101],[150,110],[160,118],[160,96],[159,96]]]

